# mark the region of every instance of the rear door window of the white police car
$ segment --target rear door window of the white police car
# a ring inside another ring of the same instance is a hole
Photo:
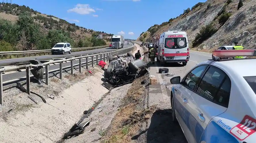
[[[224,83],[223,83],[223,80]],[[223,85],[223,86],[222,86]],[[221,86],[221,88],[220,88]],[[197,92],[204,98],[214,101],[220,104],[228,103],[226,99],[229,93],[227,93],[228,88],[230,88],[230,80],[227,75],[217,67],[210,67],[205,75],[203,76]],[[221,92],[219,93],[219,88]],[[225,94],[223,92],[225,91]],[[229,90],[230,92],[230,90]]]

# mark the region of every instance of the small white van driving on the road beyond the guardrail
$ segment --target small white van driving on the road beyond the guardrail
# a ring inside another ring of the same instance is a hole
[[[70,43],[57,43],[52,48],[52,55],[54,54],[65,54],[70,53],[71,54],[71,45]]]

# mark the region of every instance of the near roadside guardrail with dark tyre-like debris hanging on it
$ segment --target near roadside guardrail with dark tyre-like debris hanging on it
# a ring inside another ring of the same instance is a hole
[[[122,54],[126,54],[129,51],[132,51],[134,49],[135,45],[133,44],[131,47],[128,48],[124,48],[124,49],[119,49],[119,50],[115,50],[115,51],[110,51],[110,52],[105,52],[105,53],[97,53],[97,54],[90,54],[90,55],[77,55],[74,57],[64,57],[62,59],[53,59],[53,61],[50,61],[51,59],[49,59],[48,61],[39,61],[37,59],[34,60],[30,60],[29,63],[20,63],[20,64],[16,64],[16,65],[8,65],[8,66],[4,66],[4,67],[0,67],[0,104],[3,106],[3,84],[6,84],[8,82],[13,82],[13,80],[11,81],[5,81],[3,82],[3,73],[5,71],[16,71],[16,70],[20,70],[20,69],[26,69],[26,93],[30,95],[30,78],[31,77],[35,77],[39,83],[42,83],[42,79],[43,76],[45,74],[45,84],[48,85],[49,82],[49,65],[53,64],[53,63],[59,63],[60,67],[58,69],[54,69],[50,72],[53,71],[60,71],[60,80],[62,80],[62,63],[63,62],[67,62],[70,61],[70,67],[71,68],[71,75],[73,75],[74,73],[74,66],[79,66],[79,72],[82,71],[82,65],[85,64],[86,69],[88,69],[88,65],[89,63],[91,63],[91,66],[94,67],[94,63],[96,61],[96,65],[98,65],[98,61],[99,60],[107,60],[108,61],[108,56],[114,56],[114,55],[122,55]],[[96,57],[96,59],[94,59]],[[89,61],[88,58],[91,58],[91,60]],[[73,61],[75,59],[79,59],[79,63],[78,64],[73,64]],[[85,62],[82,63],[82,59],[86,59]],[[43,71],[43,66],[45,66],[45,72]],[[68,68],[65,67],[65,68]],[[33,75],[30,75],[30,71]]]

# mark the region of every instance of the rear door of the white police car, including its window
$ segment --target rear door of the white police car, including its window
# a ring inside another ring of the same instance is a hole
[[[230,92],[228,86],[231,86],[228,84],[230,83],[228,76],[214,66],[209,66],[200,79],[202,79],[200,84],[191,94],[187,103],[189,113],[187,127],[194,136],[194,142],[200,142],[200,138],[212,118],[227,110],[223,105],[228,102],[229,96],[219,96],[222,94],[219,89],[224,85],[227,92]]]

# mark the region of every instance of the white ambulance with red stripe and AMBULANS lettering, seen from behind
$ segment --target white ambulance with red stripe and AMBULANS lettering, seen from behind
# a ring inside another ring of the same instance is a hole
[[[187,33],[181,30],[169,30],[160,35],[157,61],[164,63],[182,63],[189,61]]]

